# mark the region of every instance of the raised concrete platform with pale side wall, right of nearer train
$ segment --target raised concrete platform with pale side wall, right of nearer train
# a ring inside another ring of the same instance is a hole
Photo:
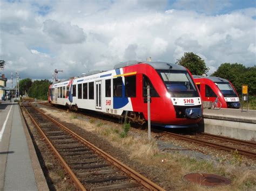
[[[256,110],[204,109],[201,132],[256,142]]]

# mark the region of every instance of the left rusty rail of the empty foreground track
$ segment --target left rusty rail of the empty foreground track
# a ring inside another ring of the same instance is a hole
[[[77,176],[73,173],[73,171],[71,170],[71,168],[68,166],[68,164],[66,164],[65,160],[62,158],[62,156],[59,154],[59,152],[56,150],[56,148],[52,145],[51,141],[48,139],[48,137],[45,135],[45,133],[43,132],[43,130],[40,128],[40,126],[38,125],[38,123],[35,121],[35,119],[33,119],[33,117],[29,114],[28,110],[26,110],[25,107],[23,107],[26,114],[28,114],[28,116],[30,117],[31,121],[33,122],[33,124],[36,126],[36,128],[39,130],[39,132],[41,133],[41,135],[44,137],[44,139],[46,140],[46,142],[49,144],[49,146],[51,147],[53,153],[55,153],[55,155],[57,156],[57,158],[59,159],[59,161],[61,162],[62,166],[65,168],[65,171],[70,175],[71,179],[73,180],[73,182],[75,183],[75,185],[77,186],[77,188],[79,190],[86,190],[85,187],[82,185],[82,183],[78,180]]]

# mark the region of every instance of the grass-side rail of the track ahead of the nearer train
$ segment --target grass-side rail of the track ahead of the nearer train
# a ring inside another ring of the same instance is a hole
[[[211,142],[207,142],[206,140],[200,140],[200,139],[195,139],[195,138],[192,138],[192,137],[186,137],[186,136],[178,135],[178,134],[171,133],[171,132],[165,132],[165,133],[167,133],[168,135],[171,135],[172,137],[180,138],[180,139],[183,139],[183,140],[188,140],[189,142],[194,142],[194,143],[198,143],[198,144],[203,143],[204,145],[215,147],[215,148],[220,148],[221,150],[225,150],[225,151],[230,151],[231,152],[231,151],[237,150],[239,154],[246,155],[248,157],[256,159],[256,153],[255,152],[247,151],[247,150],[244,150],[242,148],[234,148],[234,147],[231,147],[231,146],[220,145],[220,144],[217,144],[217,143],[211,143]]]

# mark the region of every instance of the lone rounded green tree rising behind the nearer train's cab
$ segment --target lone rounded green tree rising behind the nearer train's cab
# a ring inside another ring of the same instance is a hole
[[[184,56],[178,59],[176,63],[189,69],[193,75],[206,74],[210,69],[206,66],[205,61],[193,52],[185,52]]]

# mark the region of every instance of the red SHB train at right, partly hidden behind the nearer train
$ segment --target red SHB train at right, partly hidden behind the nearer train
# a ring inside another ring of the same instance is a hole
[[[220,77],[193,76],[203,101],[221,102],[221,108],[240,108],[239,96],[233,84]]]

